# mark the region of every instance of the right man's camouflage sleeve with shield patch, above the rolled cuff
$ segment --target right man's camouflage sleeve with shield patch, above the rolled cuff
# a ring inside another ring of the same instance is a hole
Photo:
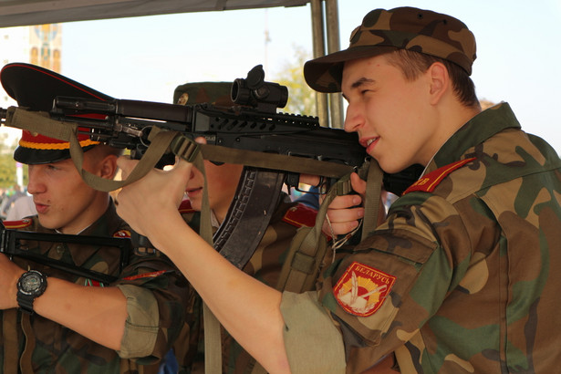
[[[326,270],[319,300],[343,337],[347,372],[410,341],[462,279],[471,244],[452,204],[411,193]]]

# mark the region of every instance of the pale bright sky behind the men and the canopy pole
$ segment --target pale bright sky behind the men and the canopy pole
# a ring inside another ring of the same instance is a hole
[[[560,0],[338,0],[341,48],[370,10],[402,5],[461,19],[477,40],[478,97],[509,102],[524,130],[561,153]],[[311,57],[309,5],[71,22],[61,73],[118,99],[171,102],[183,83],[245,78],[258,64],[280,79],[297,48]]]

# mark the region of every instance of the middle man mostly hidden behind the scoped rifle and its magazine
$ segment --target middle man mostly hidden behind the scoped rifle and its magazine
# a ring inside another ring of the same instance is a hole
[[[173,101],[182,105],[210,103],[216,107],[229,108],[234,105],[230,99],[231,87],[232,83],[227,82],[187,83],[175,89]],[[224,222],[234,201],[244,166],[231,163],[217,165],[212,161],[203,163],[213,229],[216,230]],[[203,173],[192,168],[191,178],[185,190],[188,199],[182,202],[180,212],[183,219],[196,231],[199,229],[203,206],[203,186]],[[267,286],[276,287],[296,229],[303,225],[313,226],[316,214],[315,209],[304,204],[292,203],[290,197],[282,192],[261,242],[244,266],[244,273],[259,279]],[[176,355],[182,363],[180,372],[203,373],[203,309],[200,296],[194,300],[192,309],[187,310],[187,317],[193,319],[176,343]],[[223,373],[251,373],[255,360],[224,329],[222,339]],[[193,357],[197,351],[198,354]]]

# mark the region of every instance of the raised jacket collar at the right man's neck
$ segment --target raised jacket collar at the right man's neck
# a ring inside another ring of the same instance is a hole
[[[462,160],[463,154],[470,148],[509,128],[521,129],[521,126],[508,103],[502,102],[483,110],[466,122],[442,145],[425,172],[434,171],[451,162]]]

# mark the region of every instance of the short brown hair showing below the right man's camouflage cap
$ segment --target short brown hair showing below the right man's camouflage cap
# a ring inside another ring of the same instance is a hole
[[[396,49],[384,55],[390,65],[400,68],[408,80],[418,78],[435,62],[441,62],[447,69],[452,80],[452,88],[457,98],[463,105],[473,108],[481,108],[479,100],[475,95],[475,85],[472,78],[459,65],[441,58],[414,52],[407,49]]]

